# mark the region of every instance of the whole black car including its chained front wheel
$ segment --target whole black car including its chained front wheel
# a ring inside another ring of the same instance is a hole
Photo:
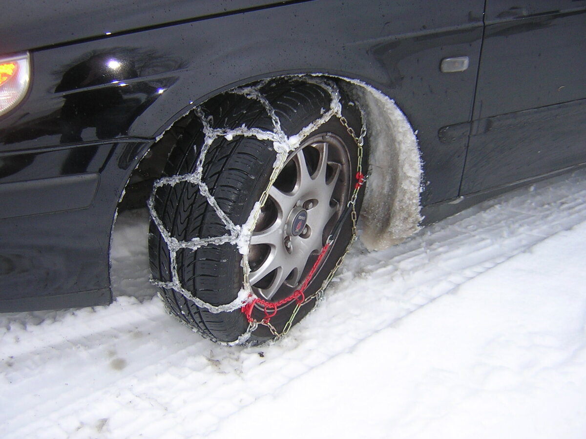
[[[5,0],[0,311],[108,304],[117,211],[216,341],[285,334],[354,241],[586,162],[586,0]],[[147,239],[147,236],[145,236]]]

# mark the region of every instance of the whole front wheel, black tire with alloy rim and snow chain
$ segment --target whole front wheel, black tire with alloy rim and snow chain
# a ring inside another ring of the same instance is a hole
[[[318,78],[197,107],[149,201],[152,278],[169,313],[229,343],[301,320],[355,237],[364,132],[357,105]]]

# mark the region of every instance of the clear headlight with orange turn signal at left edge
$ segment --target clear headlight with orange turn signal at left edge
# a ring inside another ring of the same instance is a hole
[[[29,54],[0,58],[0,116],[25,97],[29,87]]]

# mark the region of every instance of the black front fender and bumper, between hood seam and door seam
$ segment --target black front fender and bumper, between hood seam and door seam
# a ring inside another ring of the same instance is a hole
[[[42,296],[29,302],[44,308],[68,306],[65,296],[79,291],[86,293],[76,306],[110,300],[111,226],[134,167],[195,105],[260,78],[320,73],[372,85],[396,100],[417,130],[428,182],[422,202],[457,196],[466,139],[442,143],[438,131],[470,119],[482,0],[456,0],[449,8],[429,0],[244,3],[254,7],[194,12],[110,35],[82,37],[76,29],[79,39],[70,43],[29,47],[29,94],[0,118],[0,198],[25,193],[30,180],[63,189],[51,198],[53,210],[43,200],[29,203],[25,216],[0,215],[10,244],[0,250],[0,296],[9,300],[1,309],[30,309],[21,299],[26,294]],[[467,71],[440,72],[442,57],[464,54]],[[68,204],[71,191],[86,186],[91,197],[76,193],[79,201]]]

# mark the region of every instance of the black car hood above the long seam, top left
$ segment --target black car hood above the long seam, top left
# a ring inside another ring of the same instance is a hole
[[[2,53],[21,52],[299,2],[300,0],[77,0],[47,3],[4,0],[0,41]]]

